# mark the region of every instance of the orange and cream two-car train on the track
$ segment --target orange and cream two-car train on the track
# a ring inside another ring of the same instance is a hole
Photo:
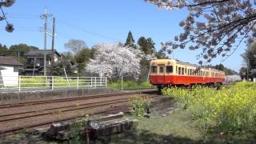
[[[192,86],[203,84],[220,86],[225,73],[173,59],[156,59],[150,62],[150,83],[158,89],[167,86]]]

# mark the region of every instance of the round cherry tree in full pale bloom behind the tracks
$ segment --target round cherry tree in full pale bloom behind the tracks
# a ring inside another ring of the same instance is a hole
[[[95,47],[96,56],[90,59],[86,70],[108,78],[120,78],[123,74],[138,79],[142,58],[153,58],[146,56],[141,50],[124,47],[118,43],[102,43]]]

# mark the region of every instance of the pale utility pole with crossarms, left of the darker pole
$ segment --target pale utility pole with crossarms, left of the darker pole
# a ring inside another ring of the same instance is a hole
[[[44,76],[46,76],[47,20],[51,16],[52,16],[52,14],[48,14],[47,10],[46,10],[45,14],[42,14],[40,16],[40,18],[45,20],[45,24],[44,24],[44,33],[45,33],[45,38],[44,38],[44,61],[43,61],[43,75]]]

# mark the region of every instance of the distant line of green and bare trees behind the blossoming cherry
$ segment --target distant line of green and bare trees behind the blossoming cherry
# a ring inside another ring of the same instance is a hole
[[[134,49],[141,51],[144,56],[139,59],[139,72],[138,81],[144,82],[148,78],[149,70],[150,70],[150,59],[152,58],[168,58],[166,53],[162,50],[156,50],[155,43],[152,38],[146,38],[144,36],[138,38],[138,41],[135,43],[133,38],[133,34],[129,31],[126,42],[123,44],[121,42],[111,45],[115,46],[116,49]],[[95,46],[88,47],[86,42],[80,39],[70,39],[70,41],[64,44],[66,48],[66,52],[62,52],[62,58],[59,58],[58,62],[54,63],[54,75],[65,75],[64,68],[66,69],[66,73],[69,76],[92,76],[94,74],[89,73],[87,71],[87,66],[91,62],[91,60],[97,59],[100,49],[102,49],[102,45],[98,44]],[[103,46],[104,47],[104,46]],[[7,47],[5,45],[0,44],[0,56],[11,56],[16,58],[19,62],[26,64],[26,53],[30,50],[39,50],[36,46],[28,46],[26,44],[18,44]],[[139,53],[140,54],[140,53]],[[113,55],[114,56],[114,55]],[[103,58],[103,57],[102,57]],[[113,61],[114,62],[114,61]],[[91,66],[91,65],[90,65]],[[111,65],[109,65],[111,66]],[[217,70],[222,70],[226,74],[236,74],[234,70],[230,70],[226,68],[222,64],[216,66],[208,66]],[[98,73],[95,73],[98,74]],[[134,77],[126,77],[125,79],[130,79]]]

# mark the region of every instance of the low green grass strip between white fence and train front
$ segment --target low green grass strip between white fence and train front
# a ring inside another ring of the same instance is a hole
[[[135,82],[135,81],[124,81],[123,86],[121,81],[108,82],[107,86],[112,89],[121,90],[136,90],[136,89],[150,89],[152,85],[149,82]]]

